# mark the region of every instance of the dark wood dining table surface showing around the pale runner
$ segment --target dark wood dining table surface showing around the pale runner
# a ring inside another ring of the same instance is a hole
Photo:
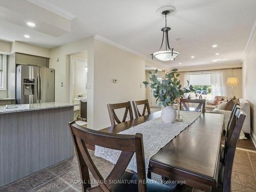
[[[158,111],[100,131],[119,133],[160,116],[161,111]],[[218,184],[223,126],[224,115],[201,114],[151,158],[150,171],[173,181],[185,181],[191,187],[211,191],[211,187]]]

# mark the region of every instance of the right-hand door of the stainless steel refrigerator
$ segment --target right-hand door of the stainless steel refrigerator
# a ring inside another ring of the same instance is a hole
[[[40,103],[54,102],[54,69],[40,68]]]

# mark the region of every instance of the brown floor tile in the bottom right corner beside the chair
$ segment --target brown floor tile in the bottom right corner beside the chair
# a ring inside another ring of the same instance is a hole
[[[232,179],[231,181],[236,184],[240,184],[246,187],[256,189],[256,181],[255,178],[249,175],[232,172]]]

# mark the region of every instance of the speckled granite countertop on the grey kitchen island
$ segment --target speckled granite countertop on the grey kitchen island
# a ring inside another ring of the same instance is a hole
[[[65,108],[67,106],[75,106],[75,105],[79,105],[79,104],[59,103],[59,102],[33,103],[33,104],[30,104],[29,109],[12,110],[12,111],[3,111],[5,106],[0,106],[0,114],[17,113],[17,112],[24,112],[24,111],[35,111],[35,110],[46,110],[46,109],[55,109],[55,108]]]

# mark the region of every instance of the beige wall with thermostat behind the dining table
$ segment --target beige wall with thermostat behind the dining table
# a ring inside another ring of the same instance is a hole
[[[110,125],[106,104],[144,99],[144,80],[144,58],[95,39],[94,129]]]

